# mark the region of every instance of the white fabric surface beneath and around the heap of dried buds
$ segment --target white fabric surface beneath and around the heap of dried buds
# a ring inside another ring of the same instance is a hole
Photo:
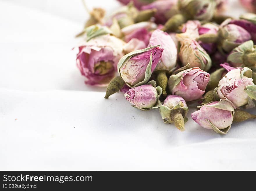
[[[88,18],[81,1],[0,0],[0,18],[0,170],[256,169],[255,120],[219,135],[190,118],[179,132],[157,110],[86,86],[71,50]]]

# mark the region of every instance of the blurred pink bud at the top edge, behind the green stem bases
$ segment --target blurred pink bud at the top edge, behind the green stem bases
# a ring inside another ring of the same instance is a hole
[[[160,24],[165,24],[166,21],[178,13],[178,0],[161,0],[161,1],[154,1],[148,5],[142,6],[142,10],[148,9],[156,9],[157,12],[155,13],[155,22]]]

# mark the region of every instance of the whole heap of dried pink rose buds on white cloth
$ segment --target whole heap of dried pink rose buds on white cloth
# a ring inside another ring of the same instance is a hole
[[[190,104],[198,125],[226,134],[256,118],[256,15],[223,16],[227,0],[119,0],[105,17],[94,8],[77,36],[77,67],[88,85],[107,86],[134,108],[159,110],[185,130]],[[241,0],[255,12],[252,0]],[[161,119],[161,118],[160,118]]]

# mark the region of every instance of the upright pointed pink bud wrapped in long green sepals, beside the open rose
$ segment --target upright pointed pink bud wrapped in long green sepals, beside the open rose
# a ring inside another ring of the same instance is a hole
[[[118,63],[121,78],[131,88],[147,83],[161,59],[162,52],[162,48],[154,46],[123,56]]]

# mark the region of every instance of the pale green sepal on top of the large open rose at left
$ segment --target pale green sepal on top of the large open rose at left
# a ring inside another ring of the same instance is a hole
[[[112,34],[112,31],[108,27],[99,25],[89,26],[85,29],[85,32],[87,36],[87,42],[97,36]]]

